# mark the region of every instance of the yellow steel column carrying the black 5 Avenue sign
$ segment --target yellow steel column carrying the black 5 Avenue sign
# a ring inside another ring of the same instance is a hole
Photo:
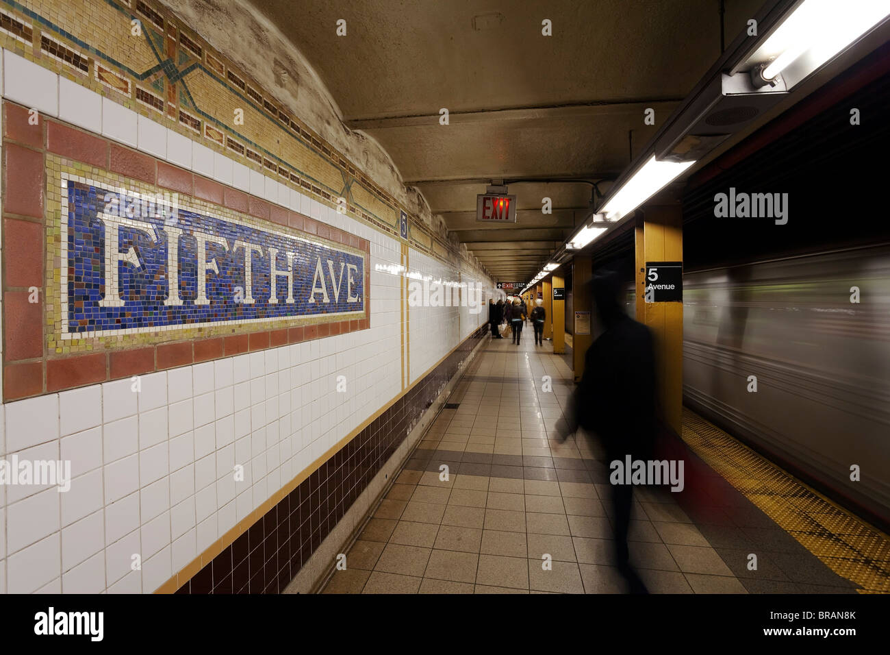
[[[656,205],[643,209],[642,230],[637,224],[636,302],[637,316],[655,340],[658,398],[667,425],[681,433],[683,415],[683,303],[645,302],[646,262],[683,261],[683,210],[679,205]],[[640,236],[643,237],[641,248]],[[642,258],[641,258],[642,254]],[[643,269],[641,274],[640,269]],[[641,289],[641,286],[643,287]]]

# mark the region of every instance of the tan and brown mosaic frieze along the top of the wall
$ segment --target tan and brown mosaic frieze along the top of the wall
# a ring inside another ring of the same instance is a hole
[[[433,258],[463,260],[473,270],[484,270],[285,110],[274,94],[183,27],[163,4],[78,0],[76,24],[67,24],[72,14],[54,11],[53,4],[0,0],[5,7],[0,45],[329,207],[343,197],[350,216]],[[140,21],[141,37],[131,34],[133,20]],[[105,29],[94,30],[91,41],[84,25]],[[249,114],[251,124],[262,124],[255,134],[234,125],[231,112],[224,111],[232,102],[246,118]],[[404,233],[403,212],[409,219]]]

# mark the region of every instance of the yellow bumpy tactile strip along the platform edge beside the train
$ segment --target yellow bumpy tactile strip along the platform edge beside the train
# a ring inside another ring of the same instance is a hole
[[[890,594],[890,536],[853,516],[684,407],[683,440],[832,571]]]

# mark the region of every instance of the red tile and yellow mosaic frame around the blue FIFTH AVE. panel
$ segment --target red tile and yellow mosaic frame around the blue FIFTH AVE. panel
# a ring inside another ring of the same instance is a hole
[[[304,340],[366,330],[370,324],[370,242],[331,225],[280,208],[245,192],[125,148],[54,119],[29,122],[28,110],[4,102],[3,312],[4,402],[119,380],[175,366],[276,348]],[[61,282],[61,176],[108,179],[127,189],[169,190],[186,204],[258,220],[270,231],[299,233],[312,241],[363,252],[363,315],[284,318],[262,331],[231,324],[124,338],[51,340],[58,298],[44,296]],[[36,291],[35,291],[36,290]],[[51,327],[52,326],[52,327]],[[171,339],[173,336],[174,340]]]

